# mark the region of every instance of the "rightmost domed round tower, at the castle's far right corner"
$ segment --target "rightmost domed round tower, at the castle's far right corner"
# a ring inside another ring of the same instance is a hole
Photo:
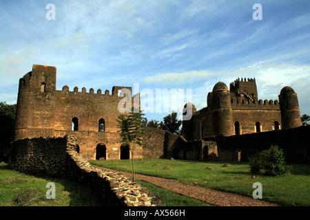
[[[297,94],[291,87],[284,87],[280,91],[279,104],[282,129],[291,129],[297,126],[302,126]]]

